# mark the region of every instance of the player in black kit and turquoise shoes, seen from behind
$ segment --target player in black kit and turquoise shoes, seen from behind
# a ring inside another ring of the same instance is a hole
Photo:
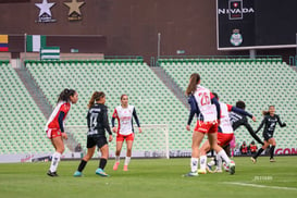
[[[87,134],[87,154],[81,161],[77,171],[74,173],[74,176],[82,176],[82,172],[85,169],[87,162],[91,159],[96,146],[101,151],[101,158],[99,161],[99,168],[96,170],[96,174],[100,176],[109,176],[104,172],[104,168],[109,158],[109,145],[106,137],[106,129],[109,133],[109,141],[112,141],[112,133],[109,126],[108,119],[108,108],[104,106],[106,95],[102,91],[95,91],[88,103],[88,113],[87,113],[87,124],[88,124],[88,134]]]

